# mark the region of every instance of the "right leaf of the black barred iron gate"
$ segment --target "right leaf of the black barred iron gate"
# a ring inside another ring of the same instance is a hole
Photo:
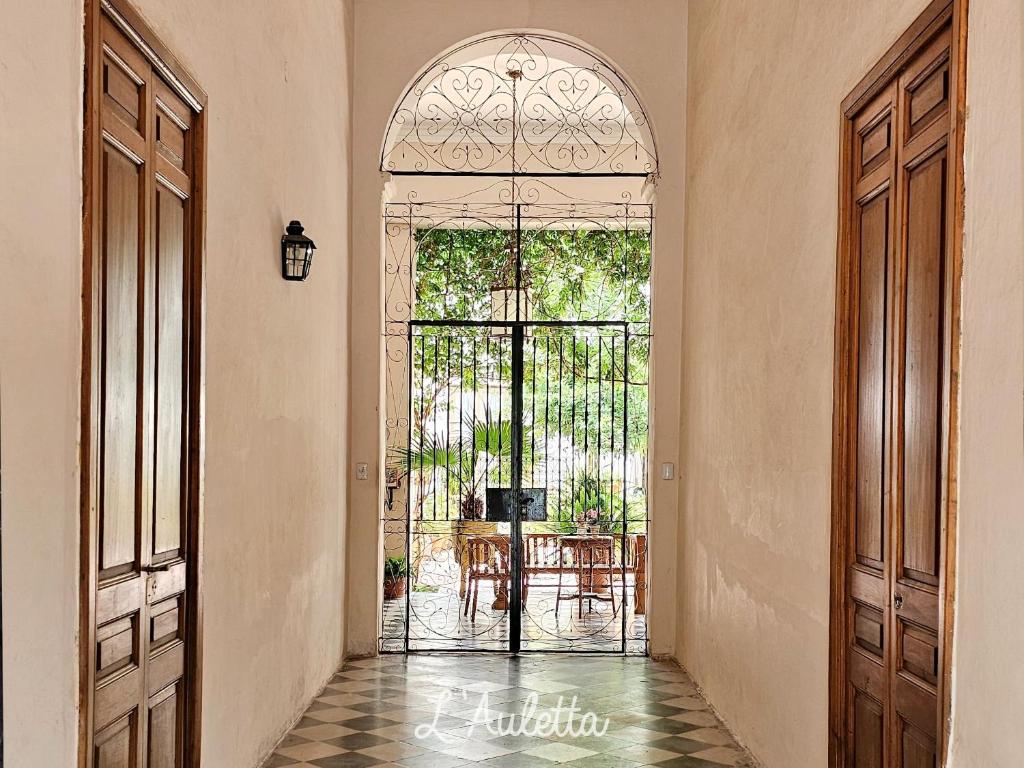
[[[523,498],[543,507],[520,521],[523,650],[621,653],[643,634],[637,553],[646,519],[626,447],[630,344],[610,324],[541,327],[524,338]],[[581,538],[578,518],[589,510],[595,532]]]

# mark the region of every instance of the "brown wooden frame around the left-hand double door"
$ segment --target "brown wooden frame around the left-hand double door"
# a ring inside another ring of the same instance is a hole
[[[185,545],[187,581],[185,585],[185,699],[183,765],[198,768],[201,755],[202,677],[203,677],[203,471],[205,454],[205,367],[204,307],[206,283],[206,166],[207,103],[206,92],[178,59],[160,41],[142,16],[127,0],[85,0],[85,68],[83,80],[83,154],[82,154],[82,381],[81,440],[79,486],[79,722],[78,764],[87,768],[92,761],[92,705],[95,690],[96,553],[98,537],[96,488],[96,446],[98,430],[97,401],[93,382],[98,381],[98,361],[93,350],[101,331],[93,290],[99,285],[101,229],[97,225],[100,201],[102,136],[100,105],[102,98],[100,22],[103,17],[119,28],[138,47],[154,70],[195,113],[191,127],[194,141],[193,196],[187,220],[187,390],[188,443],[185,460],[186,512]]]

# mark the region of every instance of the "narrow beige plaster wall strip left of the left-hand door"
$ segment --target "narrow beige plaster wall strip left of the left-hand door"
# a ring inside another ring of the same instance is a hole
[[[83,43],[81,4],[72,5],[4,3],[0,26],[0,517],[11,766],[70,767],[76,756]]]

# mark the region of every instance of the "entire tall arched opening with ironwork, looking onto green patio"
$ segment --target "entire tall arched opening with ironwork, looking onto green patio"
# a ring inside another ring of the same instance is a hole
[[[579,43],[488,35],[410,85],[381,169],[380,649],[645,654],[639,99]]]

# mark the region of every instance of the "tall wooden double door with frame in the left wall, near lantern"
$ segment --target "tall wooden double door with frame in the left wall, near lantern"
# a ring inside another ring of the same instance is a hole
[[[129,16],[90,13],[82,763],[178,768],[198,764],[200,111]]]

